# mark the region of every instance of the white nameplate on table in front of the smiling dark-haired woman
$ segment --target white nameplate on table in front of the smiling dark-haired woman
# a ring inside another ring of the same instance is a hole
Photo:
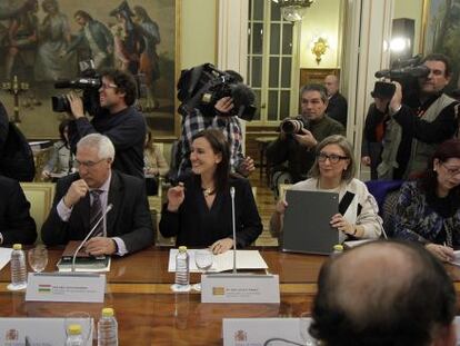
[[[280,303],[278,275],[209,274],[201,276],[201,303]]]

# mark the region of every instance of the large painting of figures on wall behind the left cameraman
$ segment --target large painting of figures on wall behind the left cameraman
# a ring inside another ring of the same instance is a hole
[[[18,81],[20,127],[28,138],[57,138],[64,113],[52,111],[58,80],[116,67],[139,80],[138,106],[156,136],[174,134],[180,1],[0,0],[0,99],[13,111]]]

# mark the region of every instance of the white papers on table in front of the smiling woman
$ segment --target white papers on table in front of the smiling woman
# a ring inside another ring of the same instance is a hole
[[[190,273],[199,273],[194,263],[196,249],[187,249],[190,257]],[[178,249],[170,249],[168,271],[176,271],[176,255]],[[237,269],[267,269],[267,263],[258,250],[237,250]],[[214,255],[210,273],[220,273],[233,269],[233,251],[229,250],[224,254]]]

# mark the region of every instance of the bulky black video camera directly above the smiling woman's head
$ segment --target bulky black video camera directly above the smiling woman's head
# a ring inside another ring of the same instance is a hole
[[[182,102],[179,112],[182,115],[198,108],[203,116],[213,117],[216,102],[223,97],[233,99],[234,107],[229,116],[251,121],[256,115],[256,95],[251,88],[232,73],[220,71],[211,63],[182,70],[177,87],[178,99]]]

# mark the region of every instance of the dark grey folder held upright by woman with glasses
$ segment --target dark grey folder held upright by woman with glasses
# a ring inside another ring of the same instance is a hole
[[[282,250],[329,255],[339,244],[339,233],[330,226],[339,212],[339,194],[287,190]]]

